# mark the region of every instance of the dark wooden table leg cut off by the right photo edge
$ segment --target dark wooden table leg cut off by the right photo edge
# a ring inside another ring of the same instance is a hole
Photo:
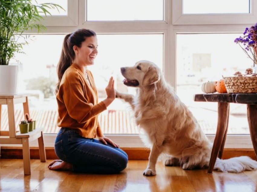
[[[247,104],[247,120],[250,129],[253,149],[257,157],[257,105]]]

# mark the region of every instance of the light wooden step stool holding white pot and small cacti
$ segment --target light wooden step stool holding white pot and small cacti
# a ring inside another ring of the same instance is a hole
[[[40,161],[46,162],[43,129],[36,128],[35,130],[24,134],[16,132],[14,105],[17,103],[23,103],[25,119],[25,114],[29,114],[28,95],[0,95],[0,122],[2,105],[7,105],[9,124],[9,131],[1,131],[0,124],[0,144],[22,144],[24,174],[30,175],[29,141],[34,139],[38,140]]]

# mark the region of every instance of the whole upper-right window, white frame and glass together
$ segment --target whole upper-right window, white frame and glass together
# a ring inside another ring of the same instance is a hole
[[[249,0],[173,0],[172,24],[254,24],[257,5]]]

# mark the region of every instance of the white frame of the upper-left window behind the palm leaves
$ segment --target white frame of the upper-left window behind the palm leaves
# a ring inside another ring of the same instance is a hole
[[[41,23],[45,26],[78,26],[78,0],[67,1],[67,15],[42,16]]]

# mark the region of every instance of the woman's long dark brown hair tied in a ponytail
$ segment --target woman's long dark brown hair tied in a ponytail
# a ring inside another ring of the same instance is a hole
[[[63,48],[61,52],[61,56],[57,65],[57,75],[59,82],[57,83],[55,93],[60,87],[60,82],[62,80],[63,74],[68,69],[68,67],[72,64],[75,53],[73,51],[73,46],[76,45],[78,47],[81,46],[81,43],[86,40],[86,37],[96,36],[96,33],[89,29],[78,29],[73,33],[70,33],[64,37],[63,40]]]

